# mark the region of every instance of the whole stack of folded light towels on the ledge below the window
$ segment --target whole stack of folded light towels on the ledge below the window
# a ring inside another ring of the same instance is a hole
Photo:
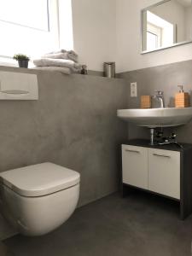
[[[73,50],[61,49],[43,55],[33,61],[38,69],[56,70],[61,73],[79,73],[82,65],[78,62],[78,55]]]

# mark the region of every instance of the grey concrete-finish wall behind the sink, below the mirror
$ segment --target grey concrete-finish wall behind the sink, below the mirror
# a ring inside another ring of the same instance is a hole
[[[131,82],[137,82],[137,98],[130,97],[130,89],[128,92],[129,108],[140,108],[140,96],[154,95],[154,90],[163,90],[166,107],[174,107],[174,96],[178,92],[178,84],[183,84],[184,90],[189,92],[192,106],[192,61],[120,73],[119,77],[126,79],[129,88]],[[149,137],[149,131],[146,128],[129,124],[128,130],[130,139]],[[192,143],[192,122],[174,129],[167,128],[165,129],[166,135],[170,134],[171,130],[177,133],[178,142]]]

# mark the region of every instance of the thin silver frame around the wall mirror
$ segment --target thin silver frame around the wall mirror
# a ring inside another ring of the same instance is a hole
[[[160,1],[158,3],[154,3],[150,6],[148,6],[147,8],[141,10],[141,22],[140,22],[140,25],[141,25],[140,26],[140,30],[141,30],[141,32],[140,32],[140,34],[141,34],[141,36],[140,36],[141,55],[144,55],[144,54],[147,54],[147,53],[150,53],[150,52],[154,52],[154,51],[159,51],[161,49],[169,49],[169,48],[172,48],[172,47],[175,47],[175,46],[192,43],[192,39],[191,39],[191,40],[188,40],[188,41],[182,41],[182,42],[179,42],[179,43],[176,43],[176,44],[172,44],[172,45],[166,46],[166,47],[159,47],[157,49],[152,49],[152,50],[143,50],[143,13],[144,13],[144,11],[150,10],[150,9],[156,7],[156,6],[161,5],[162,3],[166,3],[166,2],[170,2],[170,1],[172,1],[172,0],[163,0],[163,1]],[[192,1],[191,1],[191,3],[192,3]]]

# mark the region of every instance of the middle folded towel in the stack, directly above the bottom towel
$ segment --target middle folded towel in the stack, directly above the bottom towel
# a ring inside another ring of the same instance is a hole
[[[68,67],[74,72],[78,72],[81,70],[81,65],[71,60],[61,60],[61,59],[50,59],[50,58],[42,58],[38,60],[34,60],[33,63],[37,67]]]

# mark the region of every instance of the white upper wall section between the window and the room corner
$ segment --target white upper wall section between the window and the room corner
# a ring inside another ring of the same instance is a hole
[[[74,49],[88,69],[116,61],[116,0],[72,0]]]

